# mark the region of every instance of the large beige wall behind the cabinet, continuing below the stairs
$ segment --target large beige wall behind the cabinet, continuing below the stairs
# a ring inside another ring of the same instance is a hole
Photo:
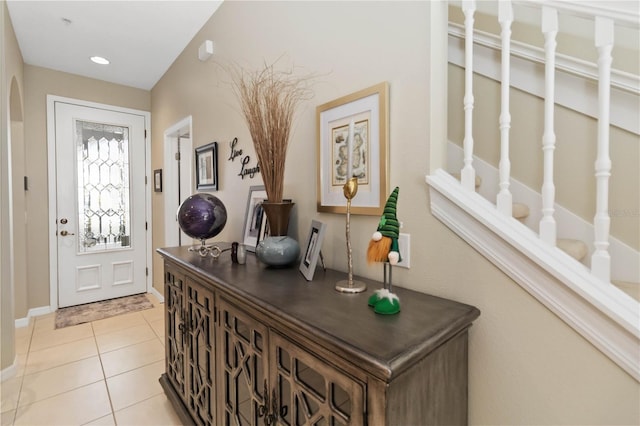
[[[345,270],[344,216],[316,212],[315,107],[388,81],[391,187],[400,187],[398,217],[412,243],[412,268],[396,268],[394,283],[482,311],[470,331],[470,423],[640,423],[634,379],[431,216],[424,182],[429,5],[225,2],[151,92],[152,169],[163,167],[164,130],[192,115],[194,146],[220,143],[216,195],[230,214],[218,239],[240,240],[248,188],[261,181],[241,180],[238,164],[227,161],[234,137],[254,155],[223,68],[232,62],[258,67],[284,54],[283,63],[318,74],[315,98],[300,110],[288,154],[285,196],[296,202],[292,228],[304,238],[312,219],[327,223],[326,261]],[[205,39],[214,41],[216,53],[202,63],[197,48]],[[162,201],[162,194],[154,194],[154,248],[163,245]],[[364,260],[376,226],[377,218],[353,217],[354,268],[382,279],[382,266]],[[159,290],[161,271],[156,256]]]

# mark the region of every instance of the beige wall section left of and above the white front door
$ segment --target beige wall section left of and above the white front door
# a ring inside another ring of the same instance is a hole
[[[150,111],[146,90],[25,65],[25,146],[29,158],[26,194],[29,226],[27,252],[38,259],[37,268],[28,269],[28,306],[49,306],[49,199],[47,178],[47,95],[64,96],[107,105]],[[18,315],[19,316],[19,315]]]

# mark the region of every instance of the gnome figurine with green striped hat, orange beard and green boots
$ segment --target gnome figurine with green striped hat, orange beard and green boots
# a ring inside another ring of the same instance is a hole
[[[396,265],[402,260],[398,245],[400,222],[396,217],[398,192],[399,188],[396,187],[389,195],[378,223],[378,229],[373,233],[367,249],[367,261],[369,263],[384,262],[385,275],[387,265],[391,268],[392,265]],[[391,279],[389,279],[389,288],[376,290],[369,297],[369,306],[372,306],[377,314],[392,315],[400,312],[400,300],[391,292]]]

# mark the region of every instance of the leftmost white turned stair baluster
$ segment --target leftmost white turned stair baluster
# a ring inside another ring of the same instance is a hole
[[[463,0],[465,28],[464,52],[464,166],[461,171],[462,186],[470,191],[476,189],[476,171],[473,168],[473,15],[476,11],[475,0]]]

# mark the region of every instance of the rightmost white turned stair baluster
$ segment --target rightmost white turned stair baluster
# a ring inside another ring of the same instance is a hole
[[[591,256],[591,272],[603,281],[611,279],[609,256],[609,102],[611,97],[611,51],[613,49],[613,21],[596,18],[595,45],[598,48],[598,152],[596,170],[595,251]]]

